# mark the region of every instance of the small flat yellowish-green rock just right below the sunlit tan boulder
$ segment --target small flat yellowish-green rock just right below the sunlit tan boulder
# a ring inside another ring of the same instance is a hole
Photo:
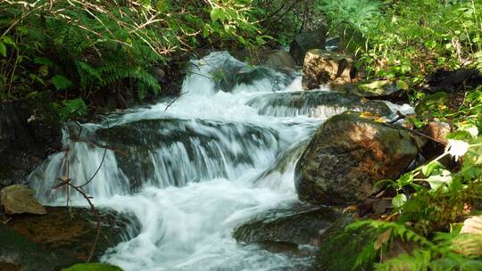
[[[400,90],[396,84],[390,80],[362,81],[345,85],[334,85],[331,87],[338,92],[379,99],[390,98]]]

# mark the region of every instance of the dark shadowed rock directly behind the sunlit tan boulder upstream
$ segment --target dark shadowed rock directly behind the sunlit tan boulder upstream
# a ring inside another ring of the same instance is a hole
[[[304,32],[296,35],[295,40],[289,46],[289,53],[293,55],[296,64],[302,66],[305,61],[304,55],[311,49],[325,49],[328,29],[320,29]]]

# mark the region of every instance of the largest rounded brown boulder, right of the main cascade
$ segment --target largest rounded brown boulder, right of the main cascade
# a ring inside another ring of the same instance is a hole
[[[299,198],[313,203],[355,204],[377,192],[375,183],[399,177],[425,142],[359,113],[328,119],[295,169]]]

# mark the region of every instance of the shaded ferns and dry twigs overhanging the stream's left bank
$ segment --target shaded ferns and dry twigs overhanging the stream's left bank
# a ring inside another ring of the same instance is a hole
[[[0,2],[0,98],[56,89],[63,99],[103,91],[142,100],[161,92],[151,67],[174,53],[260,43],[251,14],[250,1]]]

